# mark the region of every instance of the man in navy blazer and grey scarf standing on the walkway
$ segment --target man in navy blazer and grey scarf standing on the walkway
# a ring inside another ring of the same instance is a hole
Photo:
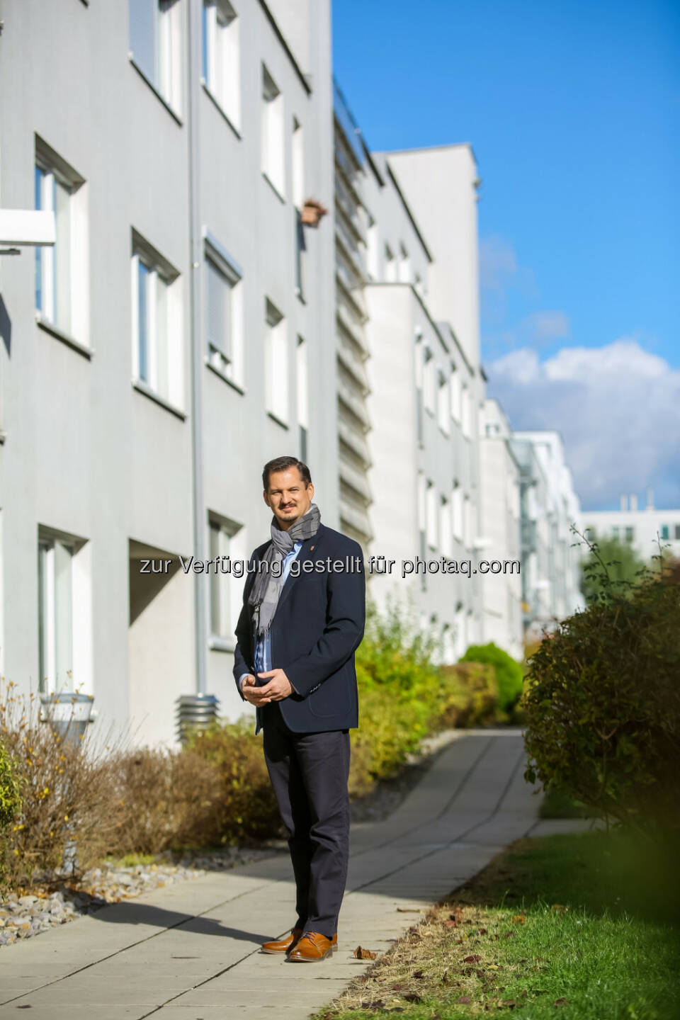
[[[323,960],[337,944],[349,861],[350,728],[359,724],[354,653],[364,634],[361,547],[326,527],[309,468],[277,457],[262,472],[271,541],[250,562],[233,675],[256,707],[289,848],[298,917],[265,953]]]

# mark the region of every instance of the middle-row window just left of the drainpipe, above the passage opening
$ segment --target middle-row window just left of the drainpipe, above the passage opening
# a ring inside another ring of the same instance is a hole
[[[184,407],[179,274],[133,232],[133,379]]]

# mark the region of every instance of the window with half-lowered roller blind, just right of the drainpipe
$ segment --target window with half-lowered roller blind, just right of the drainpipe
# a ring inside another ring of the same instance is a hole
[[[208,361],[243,386],[243,284],[241,271],[214,239],[205,243],[206,336]]]

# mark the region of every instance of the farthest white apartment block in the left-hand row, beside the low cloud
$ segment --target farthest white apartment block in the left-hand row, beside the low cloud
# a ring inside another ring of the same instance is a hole
[[[520,472],[520,547],[525,632],[538,636],[583,605],[580,504],[559,432],[516,431],[510,441]]]

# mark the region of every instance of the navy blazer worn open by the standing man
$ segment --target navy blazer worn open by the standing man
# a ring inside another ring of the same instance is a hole
[[[269,544],[258,546],[251,566],[261,560]],[[337,565],[337,561],[343,569],[336,572],[332,564]],[[306,562],[313,564],[307,568],[311,572],[305,572]],[[255,633],[248,605],[254,581],[255,571],[251,570],[244,586],[233,655],[239,694],[244,673],[252,673],[258,686],[268,682],[255,671]],[[319,524],[316,534],[303,542],[293,561],[271,621],[271,668],[282,669],[295,686],[295,692],[278,703],[290,729],[314,733],[359,725],[354,653],[364,635],[365,619],[366,578],[361,546]],[[262,723],[262,710],[258,708],[256,733]]]

